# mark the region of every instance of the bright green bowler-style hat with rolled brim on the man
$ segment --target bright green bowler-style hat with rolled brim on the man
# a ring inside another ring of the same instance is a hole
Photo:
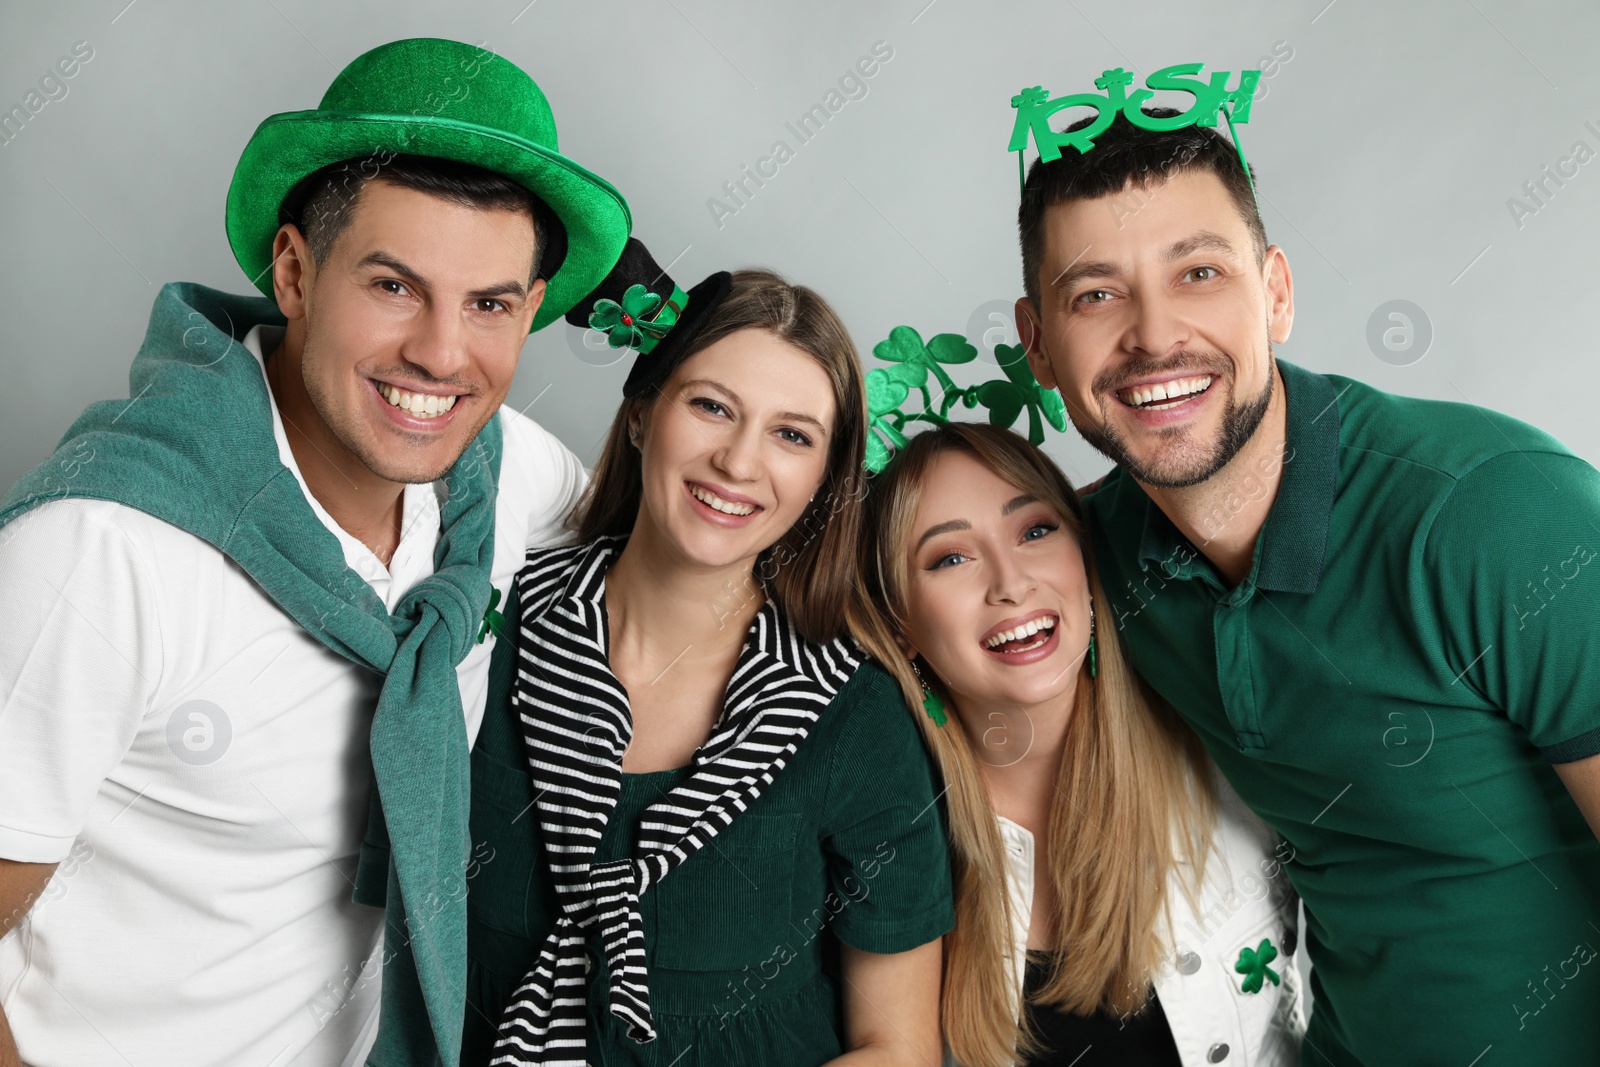
[[[547,256],[549,288],[534,330],[610,274],[632,229],[622,194],[557,150],[550,104],[517,64],[461,42],[414,37],[352,59],[315,110],[256,126],[227,190],[227,240],[256,288],[272,296],[278,208],[304,178],[362,160],[376,173],[402,154],[494,171],[555,213],[566,248],[555,250],[558,264]]]

